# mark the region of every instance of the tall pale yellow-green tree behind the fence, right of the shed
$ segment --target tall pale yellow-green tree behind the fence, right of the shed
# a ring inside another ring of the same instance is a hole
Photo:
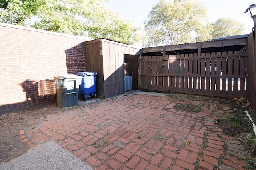
[[[148,46],[194,42],[192,32],[202,31],[206,8],[198,1],[161,0],[148,14],[145,31]]]

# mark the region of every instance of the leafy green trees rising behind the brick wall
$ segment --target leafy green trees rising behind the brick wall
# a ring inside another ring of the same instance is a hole
[[[70,35],[136,43],[128,21],[101,4],[103,0],[0,0],[0,22]],[[107,0],[105,0],[107,1]]]

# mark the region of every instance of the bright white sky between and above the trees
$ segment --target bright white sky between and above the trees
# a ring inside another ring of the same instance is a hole
[[[115,10],[124,20],[132,20],[135,26],[143,27],[144,21],[148,18],[148,13],[152,7],[160,0],[109,0],[106,4],[108,8]],[[241,24],[246,29],[244,34],[252,32],[254,26],[252,18],[245,10],[256,4],[256,0],[198,0],[204,4],[208,10],[208,21],[215,22],[219,18],[231,18]]]

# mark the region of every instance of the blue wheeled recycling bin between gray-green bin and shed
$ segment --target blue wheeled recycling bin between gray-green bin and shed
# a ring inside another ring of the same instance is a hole
[[[82,76],[82,82],[79,86],[79,100],[86,101],[90,98],[96,98],[96,72],[77,72],[77,76]]]

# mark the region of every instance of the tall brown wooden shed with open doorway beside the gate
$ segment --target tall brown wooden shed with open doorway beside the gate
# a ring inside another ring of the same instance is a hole
[[[105,38],[84,42],[86,71],[96,72],[96,94],[110,98],[124,94],[124,76],[132,75],[132,87],[138,87],[138,62],[141,50]]]

